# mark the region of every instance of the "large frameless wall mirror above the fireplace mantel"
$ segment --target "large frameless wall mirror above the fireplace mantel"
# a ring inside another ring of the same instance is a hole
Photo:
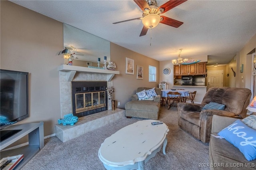
[[[78,58],[74,60],[85,61],[85,63],[97,63],[98,58],[100,58],[101,63],[103,63],[104,56],[107,56],[107,61],[110,61],[110,42],[100,37],[64,23],[63,41],[64,47],[73,46],[77,49],[77,54],[82,54],[76,55]],[[83,66],[87,67],[88,65]]]

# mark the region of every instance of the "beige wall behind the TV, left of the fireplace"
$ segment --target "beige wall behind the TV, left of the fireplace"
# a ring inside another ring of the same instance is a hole
[[[53,134],[60,119],[62,23],[9,1],[0,3],[0,67],[29,72],[30,117],[20,123],[44,121],[44,136]]]

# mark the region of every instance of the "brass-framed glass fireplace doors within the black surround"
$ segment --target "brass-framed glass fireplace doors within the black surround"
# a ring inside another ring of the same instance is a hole
[[[106,107],[105,91],[76,93],[76,113]]]

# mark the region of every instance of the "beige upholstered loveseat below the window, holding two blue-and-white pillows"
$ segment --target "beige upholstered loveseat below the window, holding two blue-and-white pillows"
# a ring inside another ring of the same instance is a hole
[[[136,93],[142,90],[152,89],[152,87],[139,87]],[[146,119],[158,119],[160,112],[160,99],[161,99],[161,89],[155,88],[157,96],[154,97],[153,101],[149,100],[138,100],[136,94],[132,95],[132,101],[125,104],[125,116],[126,117],[140,117]]]

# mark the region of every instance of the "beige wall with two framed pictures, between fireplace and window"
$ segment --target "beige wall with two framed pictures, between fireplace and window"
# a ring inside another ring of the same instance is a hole
[[[138,87],[158,87],[159,61],[114,43],[110,43],[110,56],[116,64],[116,70],[120,71],[120,75],[115,75],[113,79],[114,99],[118,108],[124,109],[125,103],[131,100],[131,95],[135,94]],[[125,73],[126,57],[134,59],[134,75]],[[137,65],[143,67],[143,80],[137,79]],[[157,79],[154,83],[148,82],[148,65],[156,66]],[[120,102],[120,106],[118,106],[118,102]]]

